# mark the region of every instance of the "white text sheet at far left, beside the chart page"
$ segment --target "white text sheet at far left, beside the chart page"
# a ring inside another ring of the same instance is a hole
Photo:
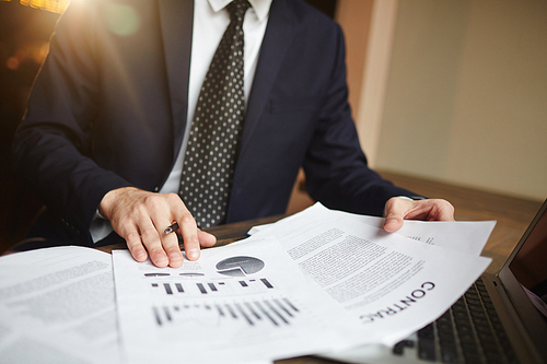
[[[75,246],[0,258],[1,363],[120,363],[110,255]]]

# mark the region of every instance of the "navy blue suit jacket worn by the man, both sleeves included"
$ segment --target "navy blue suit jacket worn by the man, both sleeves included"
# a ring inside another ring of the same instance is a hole
[[[74,1],[60,17],[14,141],[54,235],[89,245],[107,191],[161,188],[187,122],[191,22],[188,0]],[[410,195],[366,166],[342,32],[301,0],[272,2],[242,138],[226,222],[283,213],[301,166],[328,208],[381,215]]]

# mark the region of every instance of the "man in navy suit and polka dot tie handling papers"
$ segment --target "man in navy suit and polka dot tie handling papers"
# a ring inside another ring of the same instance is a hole
[[[200,227],[284,212],[301,166],[314,200],[388,232],[454,219],[368,167],[341,30],[300,0],[73,0],[14,160],[47,206],[31,235],[158,267],[183,262],[173,223],[195,260]]]

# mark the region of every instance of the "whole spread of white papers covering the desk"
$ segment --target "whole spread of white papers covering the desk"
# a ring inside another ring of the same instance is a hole
[[[316,204],[177,269],[127,250],[2,257],[1,362],[265,363],[393,344],[488,267],[493,222],[382,224]]]

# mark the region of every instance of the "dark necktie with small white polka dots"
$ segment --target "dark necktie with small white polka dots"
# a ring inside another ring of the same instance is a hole
[[[228,25],[203,80],[183,165],[179,195],[198,226],[226,213],[243,119],[243,19],[251,7],[234,0]]]

